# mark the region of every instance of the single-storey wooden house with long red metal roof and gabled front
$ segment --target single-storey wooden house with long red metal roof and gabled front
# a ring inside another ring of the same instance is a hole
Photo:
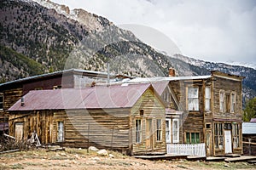
[[[9,108],[9,134],[43,144],[166,153],[165,105],[148,83],[36,90]]]

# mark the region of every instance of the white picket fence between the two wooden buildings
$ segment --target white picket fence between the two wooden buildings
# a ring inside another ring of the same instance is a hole
[[[186,156],[206,156],[205,143],[202,144],[167,144],[167,154]]]

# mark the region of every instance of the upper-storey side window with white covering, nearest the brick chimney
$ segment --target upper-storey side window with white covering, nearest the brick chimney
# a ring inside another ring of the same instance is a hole
[[[189,87],[188,109],[189,111],[199,111],[198,87]]]

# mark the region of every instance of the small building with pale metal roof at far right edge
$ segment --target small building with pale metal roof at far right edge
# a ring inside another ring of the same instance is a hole
[[[242,144],[245,156],[256,156],[256,122],[252,120],[242,123]],[[254,120],[256,121],[255,118]]]

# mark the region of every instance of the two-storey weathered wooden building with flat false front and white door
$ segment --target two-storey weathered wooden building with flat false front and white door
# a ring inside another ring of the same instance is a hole
[[[130,81],[151,82],[166,103],[166,133],[172,133],[172,138],[166,135],[166,143],[204,143],[207,156],[242,154],[243,77],[219,71],[207,76],[173,77],[171,72],[171,77]]]

